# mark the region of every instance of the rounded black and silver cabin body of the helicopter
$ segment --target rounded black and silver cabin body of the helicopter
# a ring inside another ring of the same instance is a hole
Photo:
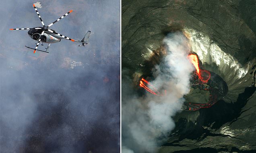
[[[35,27],[35,28],[42,28],[42,27]],[[41,29],[31,29],[27,33],[33,40],[38,41],[41,36],[42,30]],[[62,39],[61,36],[58,36],[57,34],[54,34],[52,32],[45,31],[41,38],[41,42],[56,43],[56,42],[60,42],[61,39]]]

